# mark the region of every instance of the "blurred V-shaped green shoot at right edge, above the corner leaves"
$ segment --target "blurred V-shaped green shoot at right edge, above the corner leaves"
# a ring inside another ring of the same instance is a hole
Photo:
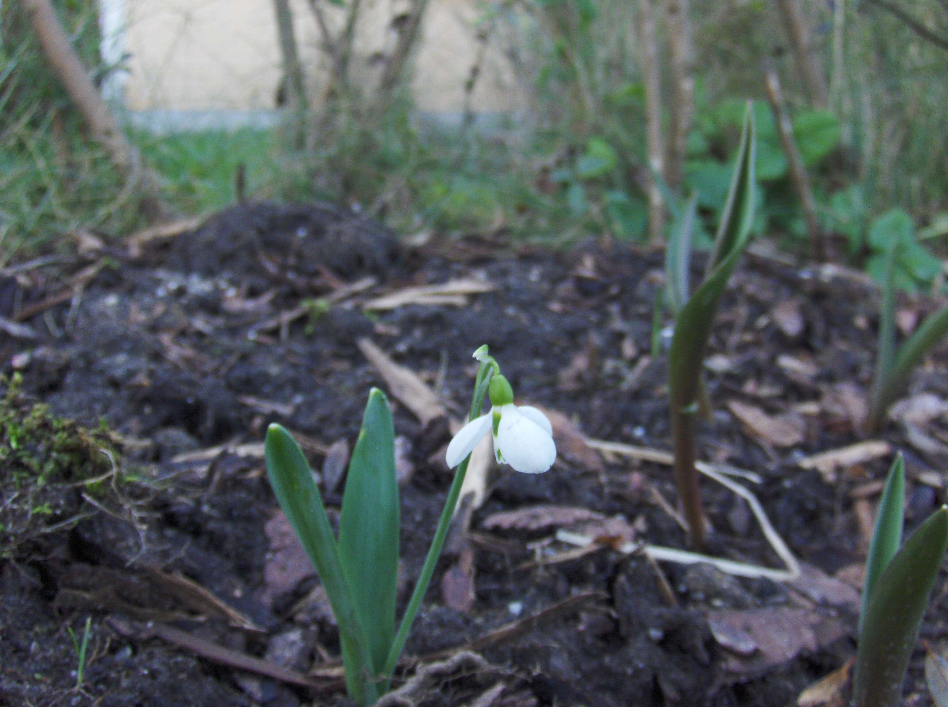
[[[869,395],[869,414],[866,428],[878,430],[885,413],[905,387],[908,376],[919,365],[922,357],[948,332],[948,307],[925,319],[921,326],[905,340],[896,352],[895,347],[895,260],[899,242],[893,239],[885,254],[882,309],[879,314],[879,345],[876,368]]]

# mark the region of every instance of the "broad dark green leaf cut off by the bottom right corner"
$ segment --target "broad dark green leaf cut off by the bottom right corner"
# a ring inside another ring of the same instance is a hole
[[[897,707],[919,626],[948,549],[948,508],[933,513],[879,578],[856,652],[852,703]]]

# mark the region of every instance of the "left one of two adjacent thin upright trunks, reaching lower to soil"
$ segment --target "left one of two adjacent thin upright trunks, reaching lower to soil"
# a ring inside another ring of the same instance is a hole
[[[665,200],[658,180],[665,176],[665,142],[662,139],[662,78],[659,74],[652,0],[640,0],[639,11],[642,73],[646,83],[648,237],[653,242],[661,242],[665,238]]]

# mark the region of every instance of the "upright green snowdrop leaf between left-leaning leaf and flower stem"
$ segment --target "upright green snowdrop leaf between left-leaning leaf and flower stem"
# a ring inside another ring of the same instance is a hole
[[[374,388],[362,416],[339,516],[339,562],[381,673],[395,635],[398,580],[398,480],[388,398]],[[348,646],[346,646],[348,649]]]

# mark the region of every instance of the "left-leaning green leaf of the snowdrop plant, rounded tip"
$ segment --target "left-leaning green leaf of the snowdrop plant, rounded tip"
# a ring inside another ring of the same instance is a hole
[[[313,480],[313,472],[300,446],[282,426],[271,425],[266,430],[264,445],[266,471],[273,493],[283,513],[300,538],[303,550],[319,572],[333,608],[339,635],[348,645],[344,658],[346,675],[367,676],[372,666],[368,642],[356,612],[352,592],[346,584],[336,548],[333,529],[326,517],[326,508]],[[364,677],[346,681],[349,697],[360,704],[371,704],[377,698],[377,689]]]

